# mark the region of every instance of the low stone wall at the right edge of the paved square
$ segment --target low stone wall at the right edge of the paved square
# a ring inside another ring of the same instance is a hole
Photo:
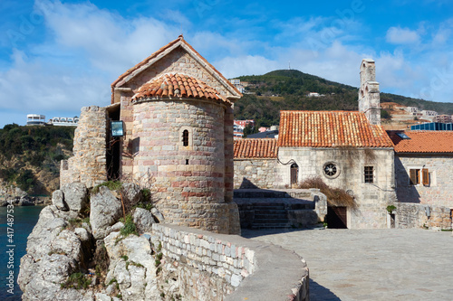
[[[419,203],[396,203],[396,228],[451,229],[451,212],[447,207]]]

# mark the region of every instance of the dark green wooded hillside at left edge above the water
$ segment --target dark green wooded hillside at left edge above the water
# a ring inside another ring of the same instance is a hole
[[[40,195],[58,189],[60,161],[72,154],[74,129],[15,124],[0,129],[0,183]]]

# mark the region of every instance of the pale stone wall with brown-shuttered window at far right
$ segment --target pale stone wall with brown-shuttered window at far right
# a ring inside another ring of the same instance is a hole
[[[427,168],[429,185],[411,185],[409,170]],[[395,155],[399,202],[436,204],[453,208],[452,155]]]

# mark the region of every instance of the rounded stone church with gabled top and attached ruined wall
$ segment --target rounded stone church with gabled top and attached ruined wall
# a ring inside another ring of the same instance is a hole
[[[232,107],[241,97],[180,35],[111,84],[109,107],[82,108],[61,183],[152,186],[166,221],[239,233]]]

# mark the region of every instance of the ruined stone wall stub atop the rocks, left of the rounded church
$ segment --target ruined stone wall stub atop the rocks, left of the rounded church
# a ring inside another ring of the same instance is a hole
[[[73,156],[61,162],[60,187],[73,182],[93,187],[107,181],[107,120],[106,108],[82,108],[74,133]]]

